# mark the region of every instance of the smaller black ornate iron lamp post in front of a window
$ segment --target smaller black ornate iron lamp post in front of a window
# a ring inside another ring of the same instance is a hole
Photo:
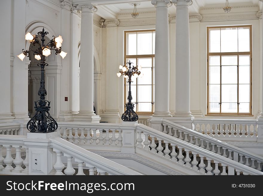
[[[126,65],[120,65],[120,69],[121,71],[119,73],[117,73],[117,76],[120,77],[121,75],[124,76],[124,78],[128,78],[127,83],[129,83],[129,93],[128,93],[128,103],[126,103],[126,111],[122,114],[121,119],[123,121],[137,121],[138,120],[138,115],[136,114],[136,112],[134,112],[133,108],[134,108],[134,103],[132,103],[132,92],[131,92],[131,83],[132,81],[132,76],[134,76],[135,78],[137,78],[141,72],[141,66],[132,66],[131,64],[133,64],[131,61],[127,62],[126,64],[129,64],[129,67],[127,67]],[[141,75],[142,76],[142,75]]]

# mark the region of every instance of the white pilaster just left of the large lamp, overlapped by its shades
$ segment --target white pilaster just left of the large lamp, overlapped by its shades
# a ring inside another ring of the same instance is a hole
[[[15,118],[28,118],[28,64],[22,62],[16,55],[25,49],[25,21],[26,3],[25,1],[13,1],[13,28],[11,31],[11,56],[14,58],[13,64],[13,116]]]

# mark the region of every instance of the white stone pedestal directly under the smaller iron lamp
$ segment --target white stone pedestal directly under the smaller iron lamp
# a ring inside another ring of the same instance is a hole
[[[137,134],[135,131],[136,124],[138,121],[135,122],[122,122],[120,124],[120,129],[122,130],[122,153],[134,153],[135,152],[135,143],[137,140]]]

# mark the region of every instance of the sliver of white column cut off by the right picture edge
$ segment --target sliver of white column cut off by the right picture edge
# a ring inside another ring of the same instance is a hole
[[[262,1],[263,0],[259,0],[259,1]],[[263,4],[263,3],[262,3]],[[261,20],[262,21],[262,32],[263,32],[263,19]],[[257,141],[258,142],[263,142],[263,33],[262,33],[262,55],[261,55],[261,58],[262,58],[262,67],[261,67],[261,113],[260,113],[260,116],[258,118],[258,138],[257,138]]]

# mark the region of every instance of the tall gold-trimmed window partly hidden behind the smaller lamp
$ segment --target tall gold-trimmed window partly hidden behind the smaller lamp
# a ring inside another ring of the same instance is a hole
[[[137,114],[152,114],[155,100],[155,30],[125,31],[124,61],[140,65],[143,77],[132,76],[132,102]],[[125,103],[129,86],[125,78]]]

